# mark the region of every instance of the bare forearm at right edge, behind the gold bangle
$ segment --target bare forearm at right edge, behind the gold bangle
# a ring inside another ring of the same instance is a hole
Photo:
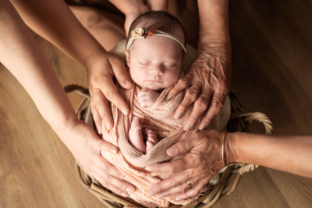
[[[312,136],[229,133],[230,162],[270,167],[312,177]],[[233,151],[231,151],[231,149]]]

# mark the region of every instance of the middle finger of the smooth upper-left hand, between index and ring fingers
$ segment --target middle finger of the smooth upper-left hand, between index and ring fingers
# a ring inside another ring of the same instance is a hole
[[[108,107],[108,101],[100,89],[93,90],[93,100],[95,107],[102,118],[101,127],[103,128],[105,125],[104,128],[111,130],[114,126],[114,120]]]

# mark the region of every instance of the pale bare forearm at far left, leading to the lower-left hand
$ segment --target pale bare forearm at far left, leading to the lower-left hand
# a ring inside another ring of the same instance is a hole
[[[32,97],[56,132],[64,131],[77,116],[35,37],[10,1],[0,1],[0,61]]]

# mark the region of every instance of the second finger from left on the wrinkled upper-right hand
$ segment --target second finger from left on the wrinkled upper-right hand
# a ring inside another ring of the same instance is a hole
[[[179,104],[178,108],[173,113],[174,119],[180,119],[183,117],[185,111],[188,109],[191,103],[193,103],[202,89],[202,84],[197,82],[190,89],[188,89],[185,93],[185,96],[182,102]]]

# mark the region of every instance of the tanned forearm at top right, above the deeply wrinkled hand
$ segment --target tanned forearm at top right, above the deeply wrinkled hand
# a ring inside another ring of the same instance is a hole
[[[217,41],[230,47],[228,0],[198,0],[199,41]]]

